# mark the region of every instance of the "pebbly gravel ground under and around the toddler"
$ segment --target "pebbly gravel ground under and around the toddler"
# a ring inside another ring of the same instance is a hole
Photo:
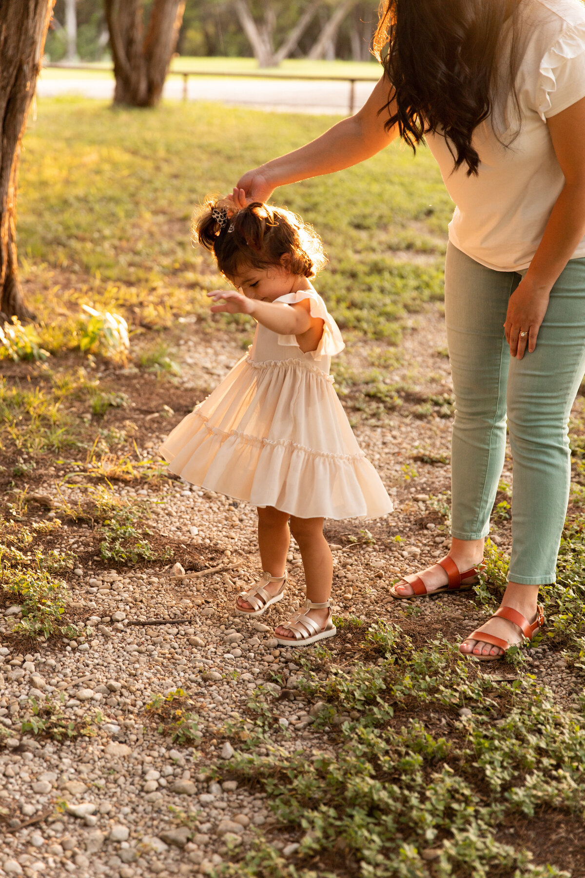
[[[426,565],[446,551],[443,518],[433,498],[448,490],[448,466],[417,459],[448,460],[450,419],[441,414],[417,417],[408,399],[450,392],[442,321],[435,311],[416,318],[405,336],[402,359],[389,379],[408,390],[403,405],[382,418],[348,405],[356,434],[393,495],[396,509],[387,520],[370,522],[375,543],[363,539],[363,523],[328,522],[327,537],[335,558],[335,612],[373,621],[396,620],[413,639],[444,633],[464,637],[482,623],[483,610],[469,595],[449,599],[391,601],[389,585],[416,565]],[[228,337],[203,339],[189,330],[182,339],[182,386],[201,398],[241,356]],[[355,368],[367,363],[367,345],[347,352]],[[154,418],[144,442],[155,448],[169,425],[179,420]],[[511,481],[509,461],[503,478]],[[54,493],[49,478],[42,486]],[[170,482],[165,488],[116,488],[126,497],[150,502],[155,529],[175,547],[175,559],[189,567],[200,558],[225,568],[196,579],[170,579],[168,565],[108,570],[95,560],[76,571],[70,585],[73,606],[88,620],[92,634],[79,641],[45,644],[39,651],[0,649],[0,722],[14,737],[0,752],[0,874],[27,876],[75,873],[134,876],[208,874],[226,855],[225,835],[252,838],[256,827],[269,830],[264,795],[238,788],[230,780],[232,744],[216,730],[231,716],[245,716],[246,700],[265,685],[278,694],[273,674],[295,689],[299,652],[278,649],[275,625],[303,601],[303,572],[294,543],[289,551],[287,599],[260,620],[233,615],[235,597],[250,587],[260,571],[255,541],[255,513],[211,492]],[[62,489],[68,500],[79,488]],[[51,515],[51,514],[49,514]],[[63,546],[83,547],[89,529],[62,529]],[[352,543],[350,536],[358,540]],[[400,540],[396,540],[400,536]],[[496,540],[509,547],[506,522]],[[88,556],[89,557],[89,556]],[[202,565],[199,564],[199,567]],[[10,630],[6,608],[0,634]],[[132,625],[158,619],[160,625]],[[181,621],[180,621],[181,620]],[[332,641],[328,642],[328,645]],[[531,673],[548,683],[560,703],[577,697],[582,683],[562,659],[546,647],[531,651]],[[232,671],[239,672],[236,680]],[[513,676],[510,666],[490,666],[489,673]],[[182,687],[203,718],[202,755],[173,746],[150,723],[145,706],[157,693]],[[20,734],[20,723],[33,695],[38,701],[64,696],[63,713],[72,723],[101,711],[103,722],[93,737],[58,743]],[[323,738],[311,730],[310,703],[303,697],[277,702],[282,726],[292,731],[290,747],[310,753]],[[282,705],[282,707],[281,707]],[[343,720],[343,715],[339,721]],[[225,766],[223,782],[211,783],[204,767]],[[189,826],[176,812],[198,811]],[[56,808],[58,810],[56,810]],[[293,838],[281,838],[282,848]]]

